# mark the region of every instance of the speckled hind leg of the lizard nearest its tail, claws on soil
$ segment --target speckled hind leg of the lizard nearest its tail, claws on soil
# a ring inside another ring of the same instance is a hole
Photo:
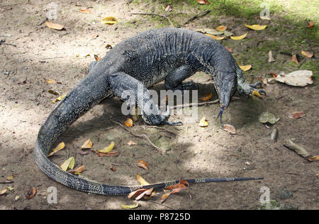
[[[117,72],[108,77],[111,91],[126,103],[137,105],[142,111],[143,120],[150,125],[177,125],[181,122],[169,122],[165,115],[161,114],[157,104],[152,100],[150,91],[138,79],[131,77],[125,72]]]

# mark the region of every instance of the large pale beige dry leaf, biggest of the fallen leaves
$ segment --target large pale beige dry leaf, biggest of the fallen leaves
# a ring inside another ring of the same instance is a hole
[[[313,72],[310,70],[297,70],[289,74],[281,74],[276,77],[276,81],[284,82],[291,86],[307,86],[313,84]]]

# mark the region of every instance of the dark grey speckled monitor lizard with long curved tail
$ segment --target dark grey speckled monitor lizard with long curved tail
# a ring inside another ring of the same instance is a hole
[[[228,50],[206,35],[191,30],[162,28],[147,30],[113,47],[99,62],[89,66],[89,74],[74,87],[69,94],[50,113],[40,128],[35,142],[35,162],[47,176],[55,181],[79,191],[119,195],[129,194],[140,188],[161,189],[179,181],[169,181],[147,186],[111,186],[89,181],[62,171],[60,167],[47,159],[47,153],[62,133],[77,118],[89,111],[97,103],[112,93],[123,101],[130,101],[123,96],[123,91],[135,94],[135,103],[142,107],[142,118],[151,125],[176,124],[166,121],[166,116],[159,113],[159,108],[151,104],[148,87],[165,80],[167,89],[191,89],[193,84],[181,82],[195,72],[202,71],[214,79],[216,92],[223,112],[230,97],[238,91],[250,94],[255,86],[250,86],[242,77],[242,70],[237,66]],[[142,94],[138,86],[142,85]],[[259,90],[262,92],[262,90]],[[148,114],[148,110],[157,113]],[[221,116],[221,113],[220,113]],[[178,123],[178,122],[177,122]],[[189,183],[215,181],[241,181],[262,178],[226,178],[226,179],[187,179]]]

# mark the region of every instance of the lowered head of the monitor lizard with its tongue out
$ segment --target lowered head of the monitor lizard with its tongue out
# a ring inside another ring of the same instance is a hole
[[[235,72],[218,72],[214,79],[214,85],[220,102],[220,124],[222,123],[222,115],[225,108],[230,103],[231,96],[237,89],[237,80]]]

